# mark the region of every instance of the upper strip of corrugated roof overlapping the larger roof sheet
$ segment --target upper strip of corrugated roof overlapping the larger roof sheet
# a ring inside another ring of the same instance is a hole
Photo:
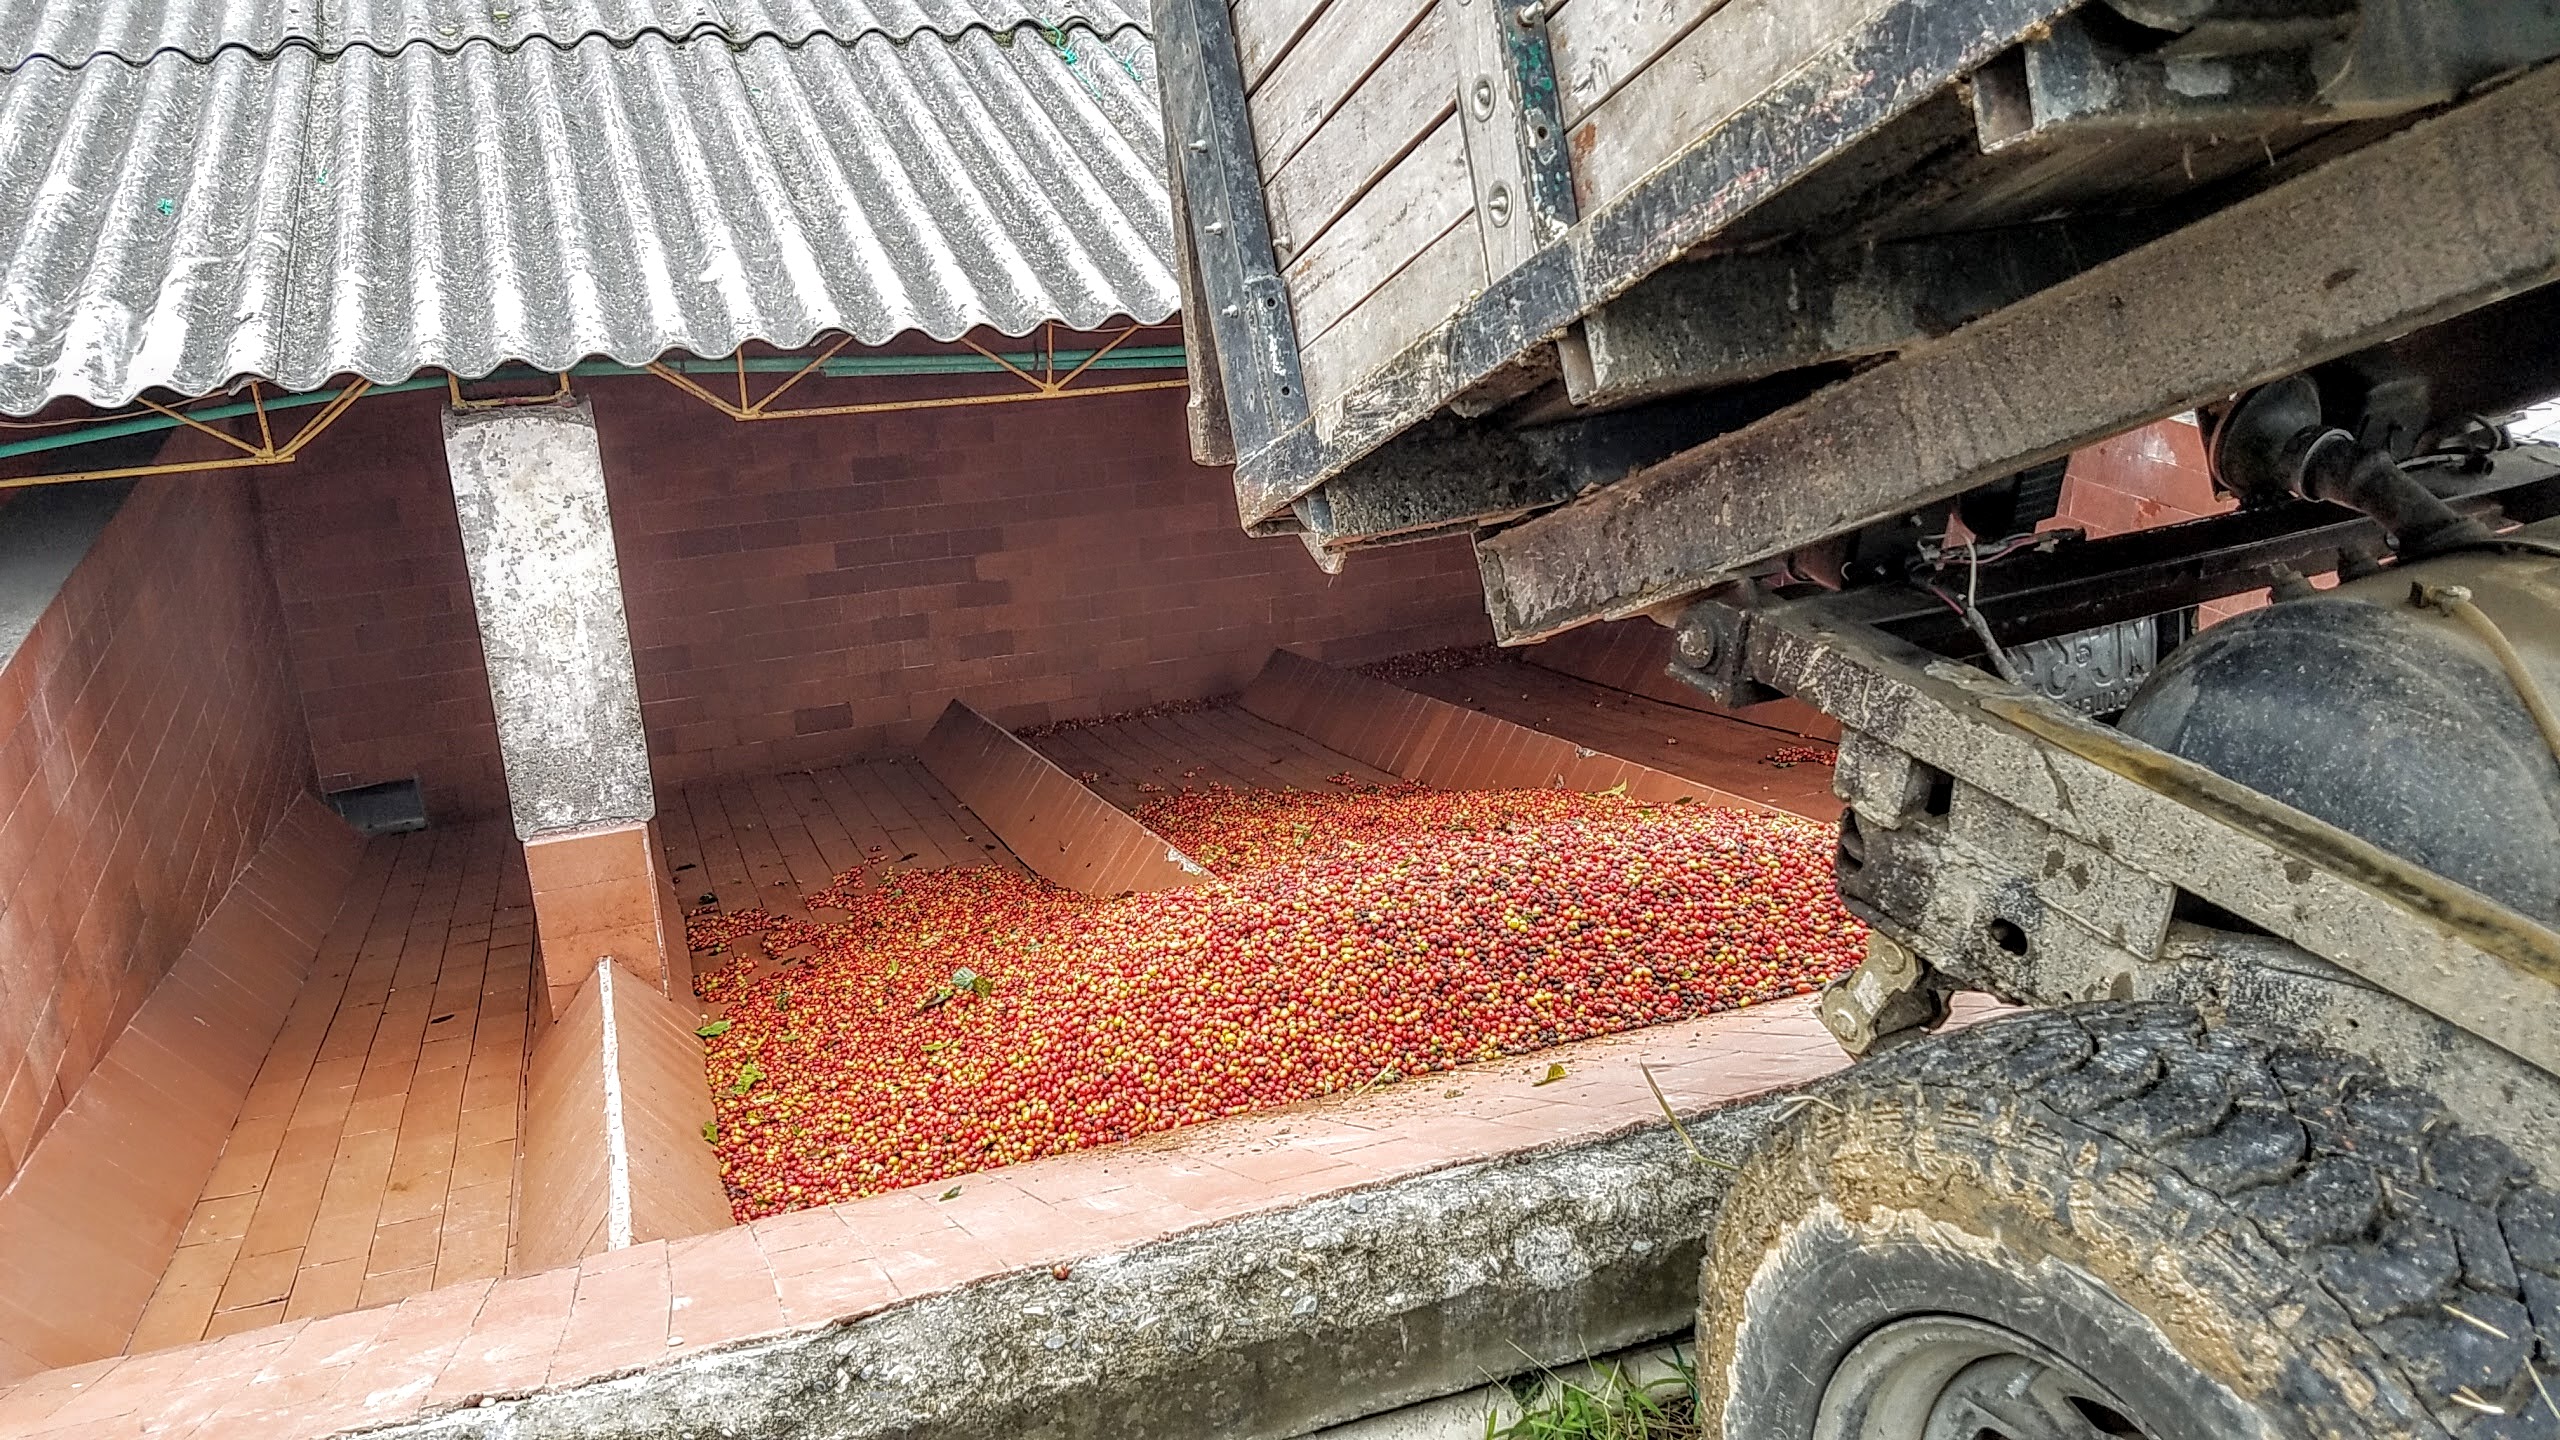
[[[0,69],[33,56],[67,67],[113,56],[210,61],[246,49],[284,46],[333,56],[348,49],[394,54],[412,44],[458,51],[471,41],[517,49],[525,41],[573,46],[640,36],[732,44],[814,36],[896,41],[1021,26],[1085,26],[1101,36],[1147,26],[1147,0],[0,0]]]

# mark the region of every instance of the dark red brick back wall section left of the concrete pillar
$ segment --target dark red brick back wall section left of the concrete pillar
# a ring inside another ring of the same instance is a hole
[[[323,789],[415,774],[428,815],[502,815],[443,407],[443,389],[366,397],[302,461],[251,474]]]

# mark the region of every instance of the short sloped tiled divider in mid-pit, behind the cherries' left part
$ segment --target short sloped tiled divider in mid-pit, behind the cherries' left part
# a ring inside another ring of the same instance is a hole
[[[1124,894],[1185,889],[1208,879],[1162,835],[957,700],[942,710],[916,758],[1021,863],[1052,884]]]

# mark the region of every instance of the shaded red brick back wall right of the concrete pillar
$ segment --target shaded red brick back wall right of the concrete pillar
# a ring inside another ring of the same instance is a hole
[[[911,748],[955,694],[1034,725],[1490,638],[1464,541],[1341,577],[1249,541],[1178,389],[758,425],[586,389],[660,784]]]

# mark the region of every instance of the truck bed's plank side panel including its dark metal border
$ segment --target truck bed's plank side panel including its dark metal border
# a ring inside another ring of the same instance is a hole
[[[1203,459],[1231,446],[1244,520],[1293,528],[1382,438],[1549,379],[1595,302],[2071,8],[1160,0]]]

